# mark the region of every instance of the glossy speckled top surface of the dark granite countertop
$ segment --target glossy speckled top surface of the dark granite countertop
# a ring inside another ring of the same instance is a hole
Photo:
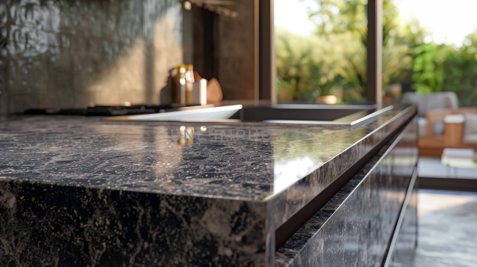
[[[290,187],[401,111],[354,128],[234,123],[210,125],[212,132],[200,136],[200,124],[194,123],[0,117],[0,178],[259,201]],[[175,140],[182,125],[195,127],[193,141]]]

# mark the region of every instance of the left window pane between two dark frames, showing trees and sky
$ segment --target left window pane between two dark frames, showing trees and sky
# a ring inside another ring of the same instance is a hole
[[[278,102],[364,101],[367,0],[275,0]]]

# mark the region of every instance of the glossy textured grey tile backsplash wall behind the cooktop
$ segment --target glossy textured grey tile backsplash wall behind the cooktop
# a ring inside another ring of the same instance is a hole
[[[167,102],[182,23],[178,0],[1,0],[0,114]]]

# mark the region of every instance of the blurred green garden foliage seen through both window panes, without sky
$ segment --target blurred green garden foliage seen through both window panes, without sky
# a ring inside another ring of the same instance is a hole
[[[335,94],[363,101],[366,89],[365,0],[316,0],[310,10],[316,34],[299,36],[276,29],[279,101],[314,101]],[[392,0],[383,5],[383,89],[455,91],[461,105],[477,102],[477,32],[461,48],[436,45],[417,20],[404,24]]]

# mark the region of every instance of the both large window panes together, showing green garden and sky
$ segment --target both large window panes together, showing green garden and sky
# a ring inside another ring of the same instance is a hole
[[[275,0],[278,102],[365,100],[366,4]],[[383,0],[384,100],[454,91],[461,106],[477,103],[475,10],[474,0]]]

